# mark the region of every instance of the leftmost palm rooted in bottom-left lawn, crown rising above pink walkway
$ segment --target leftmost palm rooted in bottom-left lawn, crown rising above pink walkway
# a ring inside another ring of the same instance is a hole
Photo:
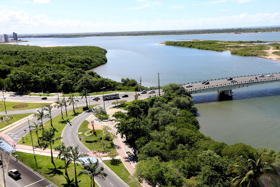
[[[55,141],[62,139],[62,137],[55,137],[55,129],[52,127],[48,131],[46,129],[43,129],[42,136],[40,136],[39,139],[43,141],[41,143],[44,147],[43,150],[45,150],[50,145],[51,163],[53,163],[53,165],[55,167],[53,150],[52,150],[51,145],[54,144]]]

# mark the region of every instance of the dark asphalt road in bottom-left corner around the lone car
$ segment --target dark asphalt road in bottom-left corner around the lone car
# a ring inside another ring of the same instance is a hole
[[[0,148],[1,152],[3,149]],[[3,180],[3,171],[2,167],[4,166],[4,174],[6,178],[6,187],[54,187],[52,183],[47,181],[45,178],[38,175],[33,170],[30,170],[25,165],[22,165],[20,162],[17,162],[14,157],[10,156],[9,152],[2,153],[3,164],[0,168],[0,185],[4,186]],[[1,159],[1,158],[0,158]],[[14,179],[8,175],[8,171],[11,169],[17,169],[21,176]]]

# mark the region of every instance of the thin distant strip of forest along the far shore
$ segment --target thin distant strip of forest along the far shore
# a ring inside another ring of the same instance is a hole
[[[232,29],[196,29],[196,30],[156,30],[105,33],[73,33],[48,35],[18,35],[19,38],[75,38],[89,36],[149,36],[149,35],[197,35],[217,33],[279,32],[280,27],[232,28]]]

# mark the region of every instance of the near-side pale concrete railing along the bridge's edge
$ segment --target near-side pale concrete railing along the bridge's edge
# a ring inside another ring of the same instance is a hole
[[[194,87],[194,88],[186,88],[186,90],[188,90],[189,92],[191,91],[198,91],[198,90],[206,90],[206,89],[212,89],[212,88],[216,88],[216,87],[225,87],[225,86],[232,86],[232,85],[241,85],[241,84],[251,84],[251,83],[256,83],[256,82],[271,82],[274,80],[280,80],[279,77],[272,77],[272,78],[263,78],[263,79],[252,79],[252,81],[237,81],[235,83],[217,83],[214,85],[201,85],[201,87]]]

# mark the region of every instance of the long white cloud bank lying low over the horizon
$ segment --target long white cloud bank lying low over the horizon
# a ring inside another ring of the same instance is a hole
[[[150,7],[152,8],[152,7]],[[34,13],[34,12],[33,12]],[[45,14],[31,15],[23,10],[0,10],[0,33],[76,33],[113,32],[135,30],[184,30],[224,27],[278,25],[280,11],[276,13],[240,14],[219,18],[161,20],[147,22],[80,22],[76,20],[50,20]]]

